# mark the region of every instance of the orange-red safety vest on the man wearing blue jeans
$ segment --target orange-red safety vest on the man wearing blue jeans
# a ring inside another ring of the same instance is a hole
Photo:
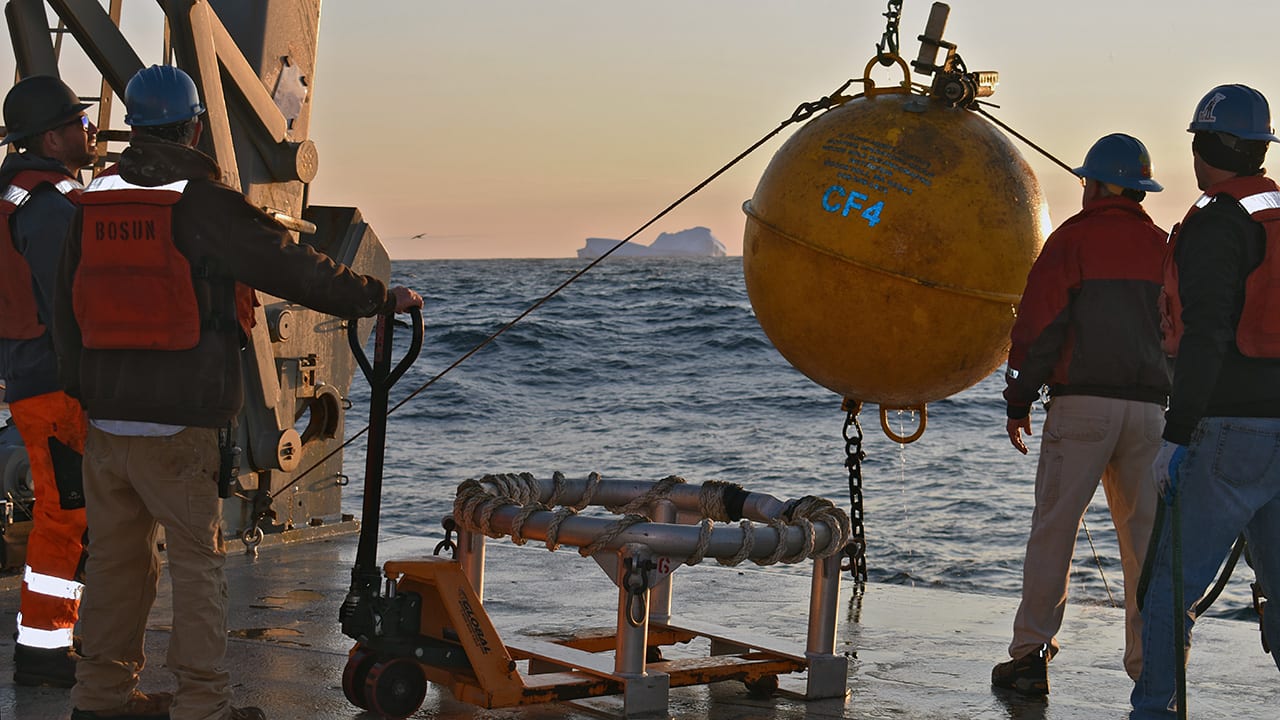
[[[1165,287],[1160,293],[1165,352],[1176,355],[1183,340],[1183,305],[1178,295],[1178,264],[1174,261],[1178,231],[1217,196],[1239,202],[1249,218],[1266,231],[1262,263],[1244,281],[1244,309],[1235,328],[1235,345],[1248,357],[1280,359],[1280,187],[1263,176],[1236,177],[1210,187],[1187,211],[1183,222],[1174,225],[1165,254]]]

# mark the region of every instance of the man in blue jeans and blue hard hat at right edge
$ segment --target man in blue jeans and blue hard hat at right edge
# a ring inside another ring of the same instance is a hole
[[[1187,129],[1203,195],[1174,228],[1165,261],[1165,348],[1176,357],[1152,469],[1188,520],[1180,553],[1172,523],[1152,538],[1133,720],[1176,716],[1178,571],[1184,647],[1193,607],[1239,534],[1261,593],[1280,597],[1280,187],[1262,168],[1280,137],[1266,97],[1243,85],[1208,91]],[[1262,605],[1262,623],[1280,667],[1280,611]]]

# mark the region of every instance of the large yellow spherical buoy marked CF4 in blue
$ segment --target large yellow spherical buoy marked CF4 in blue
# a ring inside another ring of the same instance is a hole
[[[997,128],[905,88],[797,131],[744,210],[765,334],[814,382],[882,409],[923,407],[1005,360],[1048,225]]]

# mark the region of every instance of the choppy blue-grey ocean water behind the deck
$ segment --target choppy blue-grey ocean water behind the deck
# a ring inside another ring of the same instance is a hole
[[[584,265],[393,263],[393,282],[425,300],[425,341],[392,388],[392,405]],[[397,338],[406,347],[408,331]],[[1033,415],[1030,454],[1019,454],[1005,433],[1002,387],[996,373],[931,404],[928,430],[908,446],[881,432],[878,407],[863,410],[870,582],[1019,594],[1043,413]],[[351,398],[348,436],[369,418],[358,374]],[[518,471],[641,480],[676,474],[783,500],[818,495],[847,509],[844,421],[841,398],[791,368],[755,322],[741,258],[607,259],[392,414],[381,528],[443,538],[440,519],[458,483]],[[914,428],[906,414],[890,421]],[[360,439],[347,451],[346,502],[357,516],[364,470]],[[1123,602],[1101,491],[1085,525],[1070,602]],[[1252,616],[1252,579],[1240,562],[1210,614]]]

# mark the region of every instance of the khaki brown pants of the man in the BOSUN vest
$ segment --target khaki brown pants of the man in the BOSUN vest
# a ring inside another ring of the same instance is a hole
[[[160,580],[156,536],[163,525],[173,583],[165,664],[178,680],[170,717],[230,715],[218,464],[212,428],[124,437],[90,427],[84,496],[92,544],[81,603],[84,657],[72,691],[76,707],[119,707],[138,684],[146,662],[143,632]]]

